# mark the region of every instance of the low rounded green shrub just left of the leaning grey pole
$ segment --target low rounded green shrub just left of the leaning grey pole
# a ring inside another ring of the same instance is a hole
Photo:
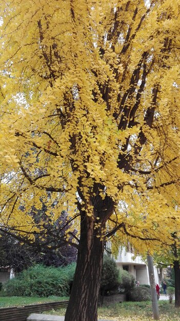
[[[128,300],[141,302],[149,301],[151,299],[151,291],[147,287],[134,287],[128,292]]]

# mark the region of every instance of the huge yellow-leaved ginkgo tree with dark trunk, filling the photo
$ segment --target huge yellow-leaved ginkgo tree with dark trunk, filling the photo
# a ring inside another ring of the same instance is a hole
[[[97,320],[108,238],[121,230],[122,241],[146,240],[147,251],[173,242],[180,223],[172,206],[179,199],[179,6],[1,5],[1,229],[31,243],[38,234],[43,243],[46,224],[30,215],[32,205],[49,203],[48,226],[68,212],[64,242],[71,239],[78,256],[65,321]]]

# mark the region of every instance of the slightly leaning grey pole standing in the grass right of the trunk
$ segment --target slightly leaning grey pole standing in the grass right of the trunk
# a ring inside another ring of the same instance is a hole
[[[155,277],[154,277],[154,268],[153,268],[153,259],[151,255],[147,255],[148,260],[148,272],[149,272],[149,281],[151,286],[151,299],[152,299],[152,310],[154,320],[159,320],[159,309],[157,304],[157,294],[155,288]]]

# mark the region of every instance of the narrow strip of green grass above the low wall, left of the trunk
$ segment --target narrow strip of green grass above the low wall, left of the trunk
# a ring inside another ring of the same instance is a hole
[[[0,296],[0,308],[69,300],[69,297]]]

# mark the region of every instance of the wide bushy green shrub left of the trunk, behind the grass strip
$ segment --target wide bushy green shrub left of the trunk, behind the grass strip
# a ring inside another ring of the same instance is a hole
[[[4,290],[8,296],[68,296],[73,269],[35,265],[8,280]]]

